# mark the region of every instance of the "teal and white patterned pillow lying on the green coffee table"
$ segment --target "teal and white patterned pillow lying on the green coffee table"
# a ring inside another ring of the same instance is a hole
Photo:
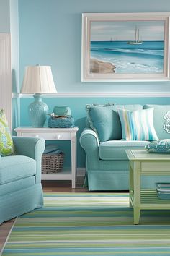
[[[150,142],[145,148],[150,153],[170,153],[170,139]]]

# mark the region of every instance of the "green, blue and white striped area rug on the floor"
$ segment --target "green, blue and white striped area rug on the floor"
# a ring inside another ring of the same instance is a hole
[[[19,216],[3,256],[170,255],[169,210],[143,210],[133,225],[128,194],[46,193]]]

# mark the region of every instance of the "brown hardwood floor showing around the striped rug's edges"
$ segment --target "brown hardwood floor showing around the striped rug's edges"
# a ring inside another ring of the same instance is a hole
[[[69,181],[42,181],[42,188],[44,192],[88,192],[87,189],[82,187],[72,189],[71,182]],[[6,221],[0,225],[0,255],[13,224],[14,219],[11,221]]]

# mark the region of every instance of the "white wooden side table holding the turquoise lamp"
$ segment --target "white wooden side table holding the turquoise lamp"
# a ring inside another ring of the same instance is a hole
[[[34,128],[17,127],[14,129],[17,136],[42,137],[45,140],[71,140],[71,170],[56,174],[42,174],[42,180],[71,180],[72,188],[76,187],[76,132],[79,127],[73,128]]]

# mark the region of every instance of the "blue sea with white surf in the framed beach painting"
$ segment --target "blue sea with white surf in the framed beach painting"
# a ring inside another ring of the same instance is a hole
[[[92,59],[115,65],[117,74],[148,74],[164,72],[164,41],[91,41]]]

